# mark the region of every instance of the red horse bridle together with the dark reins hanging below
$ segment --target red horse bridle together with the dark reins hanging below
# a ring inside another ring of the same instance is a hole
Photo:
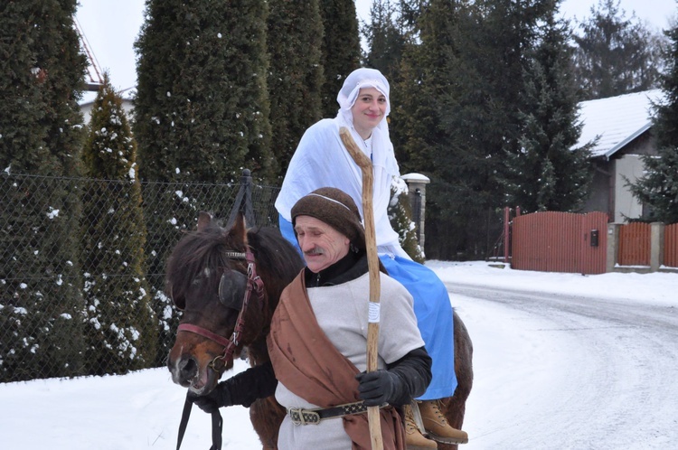
[[[230,361],[233,358],[233,352],[235,352],[235,349],[238,347],[238,344],[240,343],[240,333],[242,333],[242,330],[245,328],[245,312],[247,311],[248,305],[250,305],[250,297],[252,296],[252,292],[255,293],[256,298],[259,301],[259,304],[262,305],[262,307],[264,303],[264,282],[261,279],[261,277],[257,275],[257,267],[254,262],[254,254],[252,254],[251,250],[248,249],[247,252],[227,251],[226,257],[231,259],[247,260],[247,289],[245,290],[244,298],[242,300],[242,307],[240,308],[238,320],[236,321],[235,327],[233,328],[231,338],[226,339],[225,337],[217,333],[212,333],[210,330],[202,328],[202,326],[193,325],[193,323],[180,323],[179,327],[177,328],[177,333],[178,332],[195,333],[204,338],[209,339],[212,342],[217,342],[224,348],[223,353],[221,353],[221,355],[216,356],[209,364],[209,367],[211,367],[212,370],[217,371],[219,370],[217,368],[217,361],[221,361],[221,363],[223,364],[222,367],[225,367],[228,361]],[[179,447],[181,447],[182,441],[184,440],[184,434],[186,432],[186,426],[188,425],[188,418],[191,416],[192,407],[193,401],[191,401],[188,394],[186,394],[186,401],[184,402],[184,411],[182,413],[182,419],[179,424],[179,436],[176,441],[176,450],[179,450]],[[221,418],[221,414],[219,413],[219,410],[214,411],[212,413],[212,446],[210,447],[210,450],[221,450],[222,427],[223,420]]]

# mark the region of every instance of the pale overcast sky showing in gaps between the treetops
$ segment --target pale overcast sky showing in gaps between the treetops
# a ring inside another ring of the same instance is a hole
[[[633,12],[657,29],[666,28],[678,10],[678,0],[620,0],[626,17]],[[561,12],[568,18],[583,19],[597,0],[564,0]],[[359,17],[366,20],[372,0],[356,0]],[[651,6],[649,6],[651,5]],[[99,67],[108,70],[116,89],[128,89],[137,83],[134,42],[144,22],[145,0],[80,0],[77,19],[85,34],[89,51]]]

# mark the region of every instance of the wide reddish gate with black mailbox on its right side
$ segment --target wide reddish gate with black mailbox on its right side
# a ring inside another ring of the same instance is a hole
[[[607,213],[533,212],[513,219],[511,267],[541,272],[602,274]]]

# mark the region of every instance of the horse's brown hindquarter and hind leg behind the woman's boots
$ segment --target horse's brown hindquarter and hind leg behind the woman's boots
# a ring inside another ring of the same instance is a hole
[[[462,429],[466,412],[466,398],[473,387],[473,342],[466,325],[454,312],[455,324],[455,373],[457,389],[452,397],[443,398],[441,412],[450,426]],[[457,445],[438,443],[439,450],[457,450]]]

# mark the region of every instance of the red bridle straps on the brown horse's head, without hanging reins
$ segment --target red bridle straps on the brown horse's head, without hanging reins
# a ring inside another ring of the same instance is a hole
[[[202,326],[193,325],[193,323],[181,323],[177,328],[177,333],[188,332],[199,334],[202,337],[209,339],[210,341],[217,342],[224,348],[223,353],[221,353],[221,355],[216,356],[212,360],[212,362],[208,364],[208,367],[211,367],[213,370],[217,371],[219,370],[217,368],[217,361],[221,361],[225,366],[227,362],[231,360],[233,352],[235,352],[235,349],[238,347],[238,344],[240,343],[240,333],[242,333],[242,330],[245,327],[245,312],[247,311],[248,305],[250,305],[250,297],[252,295],[252,292],[254,292],[255,295],[257,295],[256,299],[257,301],[259,301],[259,304],[262,307],[264,303],[264,282],[261,279],[261,277],[257,275],[257,267],[254,262],[254,254],[252,254],[250,248],[248,248],[246,252],[227,251],[226,258],[245,259],[247,261],[247,289],[245,289],[244,298],[242,300],[242,307],[240,308],[238,320],[235,323],[235,328],[233,329],[231,338],[226,339],[225,337],[217,333],[213,333],[210,330],[207,330],[206,328],[202,328]]]

